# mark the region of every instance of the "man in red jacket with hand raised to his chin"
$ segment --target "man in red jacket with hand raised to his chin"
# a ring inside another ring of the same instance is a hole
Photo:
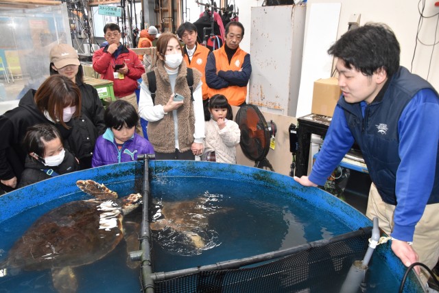
[[[124,99],[138,110],[137,96],[134,91],[139,86],[137,80],[145,73],[145,68],[137,54],[120,43],[119,25],[107,23],[104,26],[104,34],[108,45],[93,54],[93,69],[101,74],[102,79],[114,82],[116,99]],[[143,137],[140,124],[136,132]]]

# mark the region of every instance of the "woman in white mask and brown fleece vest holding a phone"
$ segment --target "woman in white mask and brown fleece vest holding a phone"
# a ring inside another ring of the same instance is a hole
[[[204,112],[201,73],[193,69],[193,99],[187,84],[186,62],[178,38],[164,33],[157,40],[154,101],[147,76],[142,75],[139,115],[148,121],[148,139],[158,160],[194,160],[203,151]],[[184,98],[174,101],[178,93]]]

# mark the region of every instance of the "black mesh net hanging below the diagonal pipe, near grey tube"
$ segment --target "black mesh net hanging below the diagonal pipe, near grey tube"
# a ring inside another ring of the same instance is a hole
[[[340,292],[353,261],[368,248],[367,231],[304,246],[251,268],[211,270],[154,282],[154,292]]]

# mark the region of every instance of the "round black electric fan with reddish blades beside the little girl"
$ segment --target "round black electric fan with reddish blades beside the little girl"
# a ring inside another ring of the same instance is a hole
[[[267,124],[259,108],[250,104],[239,108],[235,122],[241,130],[239,145],[242,152],[255,162],[254,167],[268,167],[274,172],[266,156],[270,150],[270,139],[276,134],[276,124],[273,121]]]

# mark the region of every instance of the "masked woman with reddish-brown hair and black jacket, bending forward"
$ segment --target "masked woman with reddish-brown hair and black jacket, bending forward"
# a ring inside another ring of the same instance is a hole
[[[80,90],[69,78],[52,75],[37,91],[29,90],[19,106],[0,116],[0,188],[11,191],[20,181],[27,152],[23,138],[27,128],[47,123],[58,128],[63,141],[73,135],[72,119],[81,113]],[[76,145],[75,145],[76,143]],[[80,141],[69,140],[70,148],[80,148]],[[70,150],[69,148],[69,150]],[[1,190],[0,190],[1,194]]]

